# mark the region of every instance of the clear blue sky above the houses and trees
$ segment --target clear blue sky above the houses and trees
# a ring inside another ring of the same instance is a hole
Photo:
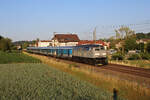
[[[18,40],[48,40],[53,32],[80,39],[115,35],[129,25],[150,32],[150,0],[0,0],[0,35]]]

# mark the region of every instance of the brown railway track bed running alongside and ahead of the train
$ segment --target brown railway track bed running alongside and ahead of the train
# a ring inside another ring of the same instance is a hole
[[[124,65],[117,65],[117,64],[108,64],[104,66],[94,66],[94,65],[89,65],[85,63],[79,63],[79,62],[74,62],[72,60],[66,60],[66,59],[59,59],[55,57],[50,57],[47,56],[50,59],[56,59],[65,63],[73,64],[75,63],[77,66],[84,67],[84,66],[90,66],[90,68],[94,72],[101,72],[101,69],[105,70],[111,70],[114,72],[120,72],[120,73],[126,73],[134,76],[140,76],[140,77],[145,77],[145,78],[150,78],[150,69],[144,69],[144,68],[138,68],[138,67],[131,67],[131,66],[124,66]]]

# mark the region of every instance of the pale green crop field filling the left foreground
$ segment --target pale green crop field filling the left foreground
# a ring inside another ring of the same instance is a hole
[[[44,64],[0,64],[0,99],[112,100],[112,93]]]

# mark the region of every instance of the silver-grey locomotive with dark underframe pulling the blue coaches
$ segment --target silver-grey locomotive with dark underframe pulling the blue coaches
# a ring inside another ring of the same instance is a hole
[[[101,45],[80,45],[73,49],[73,59],[89,64],[107,64],[107,53]]]

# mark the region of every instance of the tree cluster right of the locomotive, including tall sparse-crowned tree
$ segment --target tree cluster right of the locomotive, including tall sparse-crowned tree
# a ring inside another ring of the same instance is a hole
[[[135,33],[129,27],[121,27],[115,30],[116,36],[110,37],[107,41],[110,42],[110,49],[116,49],[122,53],[127,53],[129,50],[140,50],[141,52],[150,53],[150,41],[137,42],[140,39],[150,40],[149,33]],[[116,47],[119,44],[120,47]]]

